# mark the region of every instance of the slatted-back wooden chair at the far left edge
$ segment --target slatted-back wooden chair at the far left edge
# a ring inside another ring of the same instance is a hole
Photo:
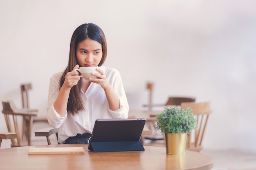
[[[27,110],[27,109],[17,109],[16,106],[12,101],[2,101],[3,110],[2,113],[4,114],[5,122],[7,125],[8,132],[15,132],[17,133],[17,139],[11,140],[11,147],[16,146],[29,146],[30,145],[30,136],[31,136],[31,128],[32,128],[32,122],[33,117],[37,115],[36,112],[33,110]],[[18,118],[25,119],[25,135],[26,140],[20,140],[20,132],[19,132],[19,126],[18,126]],[[12,120],[12,121],[11,121]],[[14,130],[13,130],[14,127]]]

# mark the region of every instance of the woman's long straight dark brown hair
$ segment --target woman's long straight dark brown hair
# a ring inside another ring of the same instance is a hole
[[[107,57],[107,42],[106,42],[106,38],[103,31],[99,26],[92,23],[80,25],[79,27],[76,28],[71,38],[69,60],[68,60],[67,68],[63,72],[63,75],[61,76],[61,79],[60,79],[60,88],[65,81],[65,75],[68,72],[72,71],[74,66],[78,64],[77,58],[76,58],[76,48],[78,44],[83,40],[86,40],[87,38],[95,40],[101,44],[102,58],[98,66],[101,66],[104,63]],[[70,95],[67,102],[67,111],[72,115],[75,115],[78,113],[79,110],[84,109],[83,101],[80,95],[81,86],[82,86],[82,81],[79,81],[78,84],[76,86],[73,86],[70,91]]]

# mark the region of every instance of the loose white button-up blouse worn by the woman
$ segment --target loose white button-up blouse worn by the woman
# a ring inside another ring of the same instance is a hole
[[[96,119],[128,117],[129,106],[120,73],[114,68],[104,66],[99,68],[105,72],[108,82],[119,97],[120,108],[118,110],[110,110],[106,94],[101,85],[91,83],[85,93],[82,90],[80,92],[85,110],[80,110],[74,116],[66,111],[65,117],[61,117],[54,109],[53,103],[57,99],[60,91],[59,82],[63,72],[52,75],[49,84],[47,119],[53,128],[58,128],[58,142],[60,144],[63,144],[68,137],[76,136],[78,133],[92,133]]]

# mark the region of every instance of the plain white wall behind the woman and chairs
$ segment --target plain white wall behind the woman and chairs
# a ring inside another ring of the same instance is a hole
[[[0,100],[46,114],[50,76],[62,71],[71,35],[93,22],[106,34],[105,66],[117,68],[130,109],[169,95],[211,100],[205,149],[256,152],[256,1],[0,0]],[[0,106],[2,110],[2,105]],[[0,115],[0,131],[7,131]]]

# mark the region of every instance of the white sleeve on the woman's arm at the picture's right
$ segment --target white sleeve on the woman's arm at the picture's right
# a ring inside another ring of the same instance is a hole
[[[110,110],[110,108],[108,106],[108,111],[114,118],[127,119],[129,105],[128,105],[126,93],[124,91],[124,85],[123,85],[119,71],[113,69],[113,73],[109,78],[109,82],[110,82],[110,84],[112,84],[112,87],[113,87],[117,97],[119,98],[120,108],[118,110],[113,111],[113,110]]]

